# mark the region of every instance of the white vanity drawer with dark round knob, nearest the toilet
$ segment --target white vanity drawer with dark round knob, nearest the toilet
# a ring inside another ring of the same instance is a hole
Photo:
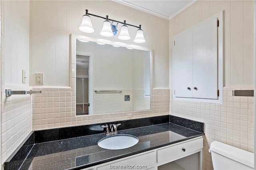
[[[188,153],[203,148],[203,138],[188,140],[184,143],[173,144],[157,150],[157,162],[174,161],[189,155]],[[191,153],[190,153],[191,154]]]

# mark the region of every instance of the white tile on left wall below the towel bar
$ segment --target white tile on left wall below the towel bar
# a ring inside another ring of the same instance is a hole
[[[2,162],[18,148],[32,131],[32,97],[2,93]]]

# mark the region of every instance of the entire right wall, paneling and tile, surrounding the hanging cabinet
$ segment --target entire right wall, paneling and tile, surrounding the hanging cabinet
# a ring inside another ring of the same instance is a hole
[[[223,89],[223,104],[170,101],[171,115],[206,123],[205,170],[213,169],[208,149],[214,140],[254,151],[253,97],[232,96],[233,89],[254,89],[254,1],[198,0],[169,21],[169,80],[172,87],[172,37],[222,10],[224,86],[227,86]]]

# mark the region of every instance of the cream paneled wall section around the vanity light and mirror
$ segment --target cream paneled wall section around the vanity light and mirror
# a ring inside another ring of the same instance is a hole
[[[117,36],[111,41],[142,45],[153,49],[156,77],[154,87],[168,87],[168,20],[124,6],[110,0],[52,0],[31,1],[31,85],[35,85],[35,73],[44,73],[43,86],[69,86],[70,44],[69,35],[78,34],[104,38],[99,33],[104,20],[92,17],[94,33],[83,33],[78,27],[85,9],[99,16],[109,15],[114,20],[127,20],[133,25],[142,25],[146,43],[134,43],[136,28],[129,27],[128,41]],[[47,12],[46,12],[47,11]],[[120,26],[120,25],[118,25]],[[161,30],[159,30],[161,28]]]

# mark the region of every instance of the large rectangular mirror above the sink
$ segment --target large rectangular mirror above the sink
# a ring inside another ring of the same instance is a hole
[[[76,115],[150,109],[150,51],[76,40]]]

